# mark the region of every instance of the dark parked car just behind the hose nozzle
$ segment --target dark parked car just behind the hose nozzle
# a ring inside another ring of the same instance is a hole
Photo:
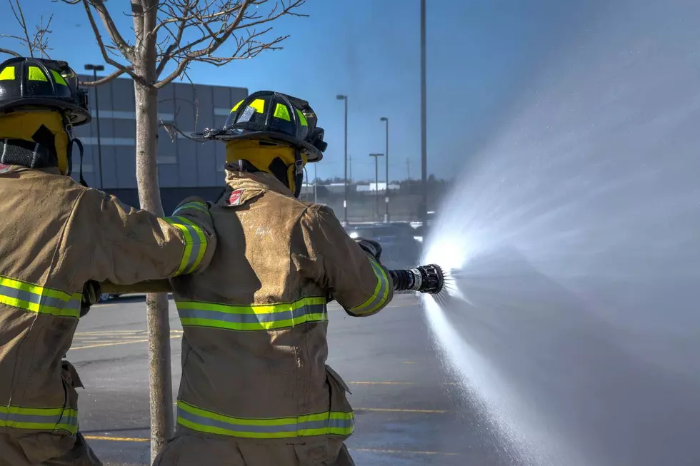
[[[386,268],[414,268],[421,257],[421,242],[410,223],[360,223],[345,227],[351,238],[367,238],[381,244]]]

